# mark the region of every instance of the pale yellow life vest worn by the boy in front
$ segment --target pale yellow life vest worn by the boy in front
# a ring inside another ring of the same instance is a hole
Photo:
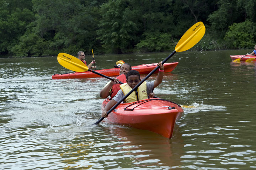
[[[120,89],[122,89],[124,95],[128,94],[128,92],[130,92],[132,90],[132,88],[127,83],[124,83],[124,84],[120,85]],[[147,94],[147,91],[146,91],[146,82],[143,82],[138,87],[138,98],[139,98],[139,100],[143,100],[143,99],[148,98],[148,94]],[[138,101],[135,91],[133,91],[132,94],[130,94],[124,100],[125,103],[130,103],[130,102],[135,102],[135,101]]]

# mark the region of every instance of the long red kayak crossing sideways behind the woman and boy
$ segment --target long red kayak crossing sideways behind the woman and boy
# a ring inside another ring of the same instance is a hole
[[[178,62],[173,63],[164,63],[164,72],[171,72],[178,65]],[[148,74],[155,67],[157,67],[157,63],[152,64],[142,64],[139,66],[132,66],[132,70],[137,70],[140,74]],[[95,72],[104,74],[108,77],[118,76],[120,68],[111,68],[111,69],[103,69],[103,70],[95,70]],[[158,73],[158,70],[156,72]],[[76,72],[76,73],[65,73],[65,74],[53,74],[52,79],[82,79],[82,78],[94,78],[101,77],[92,72]]]

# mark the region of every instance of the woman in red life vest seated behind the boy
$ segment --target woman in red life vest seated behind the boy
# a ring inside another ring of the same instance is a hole
[[[116,96],[117,92],[120,90],[120,84],[118,83],[121,81],[122,83],[126,83],[126,74],[132,69],[130,64],[123,63],[120,71],[119,76],[116,78],[113,78],[114,81],[109,81],[105,87],[100,91],[100,97],[107,98],[108,96],[111,97],[111,99]]]

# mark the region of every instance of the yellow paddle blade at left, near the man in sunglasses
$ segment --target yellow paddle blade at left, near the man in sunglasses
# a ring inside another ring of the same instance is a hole
[[[85,65],[85,63],[83,63],[78,58],[76,58],[74,56],[71,56],[69,54],[61,52],[61,53],[58,54],[57,60],[58,60],[60,65],[62,65],[63,67],[65,67],[67,69],[70,69],[74,72],[86,72],[86,71],[88,71],[88,67]]]

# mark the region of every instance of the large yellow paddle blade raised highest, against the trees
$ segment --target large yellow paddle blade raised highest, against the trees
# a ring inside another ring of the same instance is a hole
[[[205,33],[205,26],[203,22],[197,22],[181,37],[180,41],[175,47],[176,52],[182,52],[190,49],[199,42]]]

